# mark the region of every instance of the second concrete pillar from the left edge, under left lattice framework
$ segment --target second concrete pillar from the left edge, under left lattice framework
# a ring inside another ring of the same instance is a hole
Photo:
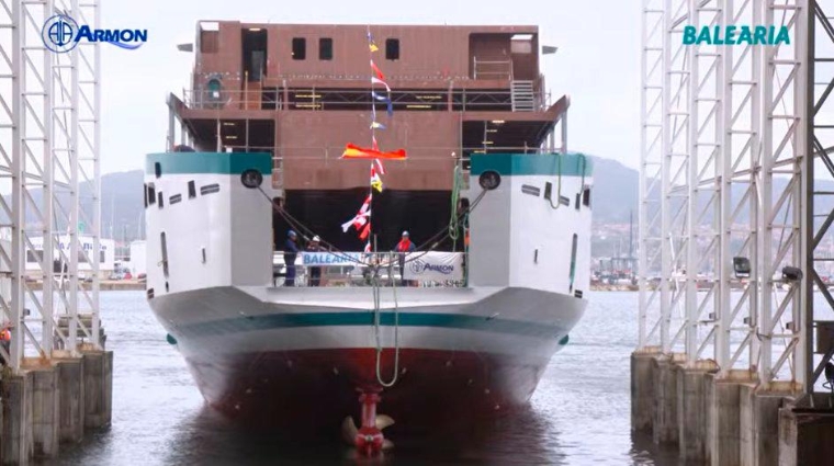
[[[58,372],[37,367],[32,374],[32,442],[38,458],[58,455]]]

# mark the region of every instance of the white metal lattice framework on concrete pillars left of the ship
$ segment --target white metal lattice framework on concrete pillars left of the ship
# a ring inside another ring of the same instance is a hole
[[[0,245],[0,271],[11,281],[0,307],[12,326],[11,354],[2,355],[14,370],[24,357],[49,359],[56,346],[77,353],[77,329],[99,346],[100,52],[80,43],[56,54],[42,38],[55,14],[95,26],[98,8],[95,1],[0,0],[0,193],[11,194],[0,198],[0,227],[11,236]],[[79,224],[93,237],[94,254],[83,251]],[[64,248],[61,236],[70,238]],[[42,292],[27,280],[27,257],[38,269],[29,275],[43,276]],[[92,264],[89,292],[79,259]],[[90,315],[92,328],[79,312]],[[61,319],[69,320],[67,339],[55,338]]]

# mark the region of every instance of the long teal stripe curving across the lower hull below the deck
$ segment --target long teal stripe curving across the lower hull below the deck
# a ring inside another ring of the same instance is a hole
[[[392,310],[384,310],[380,315],[380,323],[385,327],[393,327],[394,312]],[[347,311],[248,316],[187,326],[180,329],[178,334],[183,337],[210,337],[256,330],[346,326],[373,326],[373,312]],[[399,312],[399,326],[480,330],[543,339],[562,338],[565,334],[565,329],[556,326],[453,314]]]

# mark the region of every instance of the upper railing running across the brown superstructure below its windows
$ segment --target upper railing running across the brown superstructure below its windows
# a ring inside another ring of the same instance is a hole
[[[486,79],[486,78],[484,78]],[[376,89],[385,92],[384,89]],[[252,111],[368,111],[375,105],[385,112],[387,104],[374,101],[369,89],[250,89],[246,90],[183,90],[183,103],[194,110],[252,110]],[[391,93],[394,111],[449,111],[449,112],[510,112],[512,89],[394,89]],[[534,111],[544,111],[550,101],[542,89],[532,92]]]

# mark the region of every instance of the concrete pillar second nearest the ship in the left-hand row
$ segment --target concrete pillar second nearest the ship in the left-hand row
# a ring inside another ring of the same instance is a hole
[[[83,365],[80,357],[59,360],[58,373],[58,439],[78,443],[84,433]]]

